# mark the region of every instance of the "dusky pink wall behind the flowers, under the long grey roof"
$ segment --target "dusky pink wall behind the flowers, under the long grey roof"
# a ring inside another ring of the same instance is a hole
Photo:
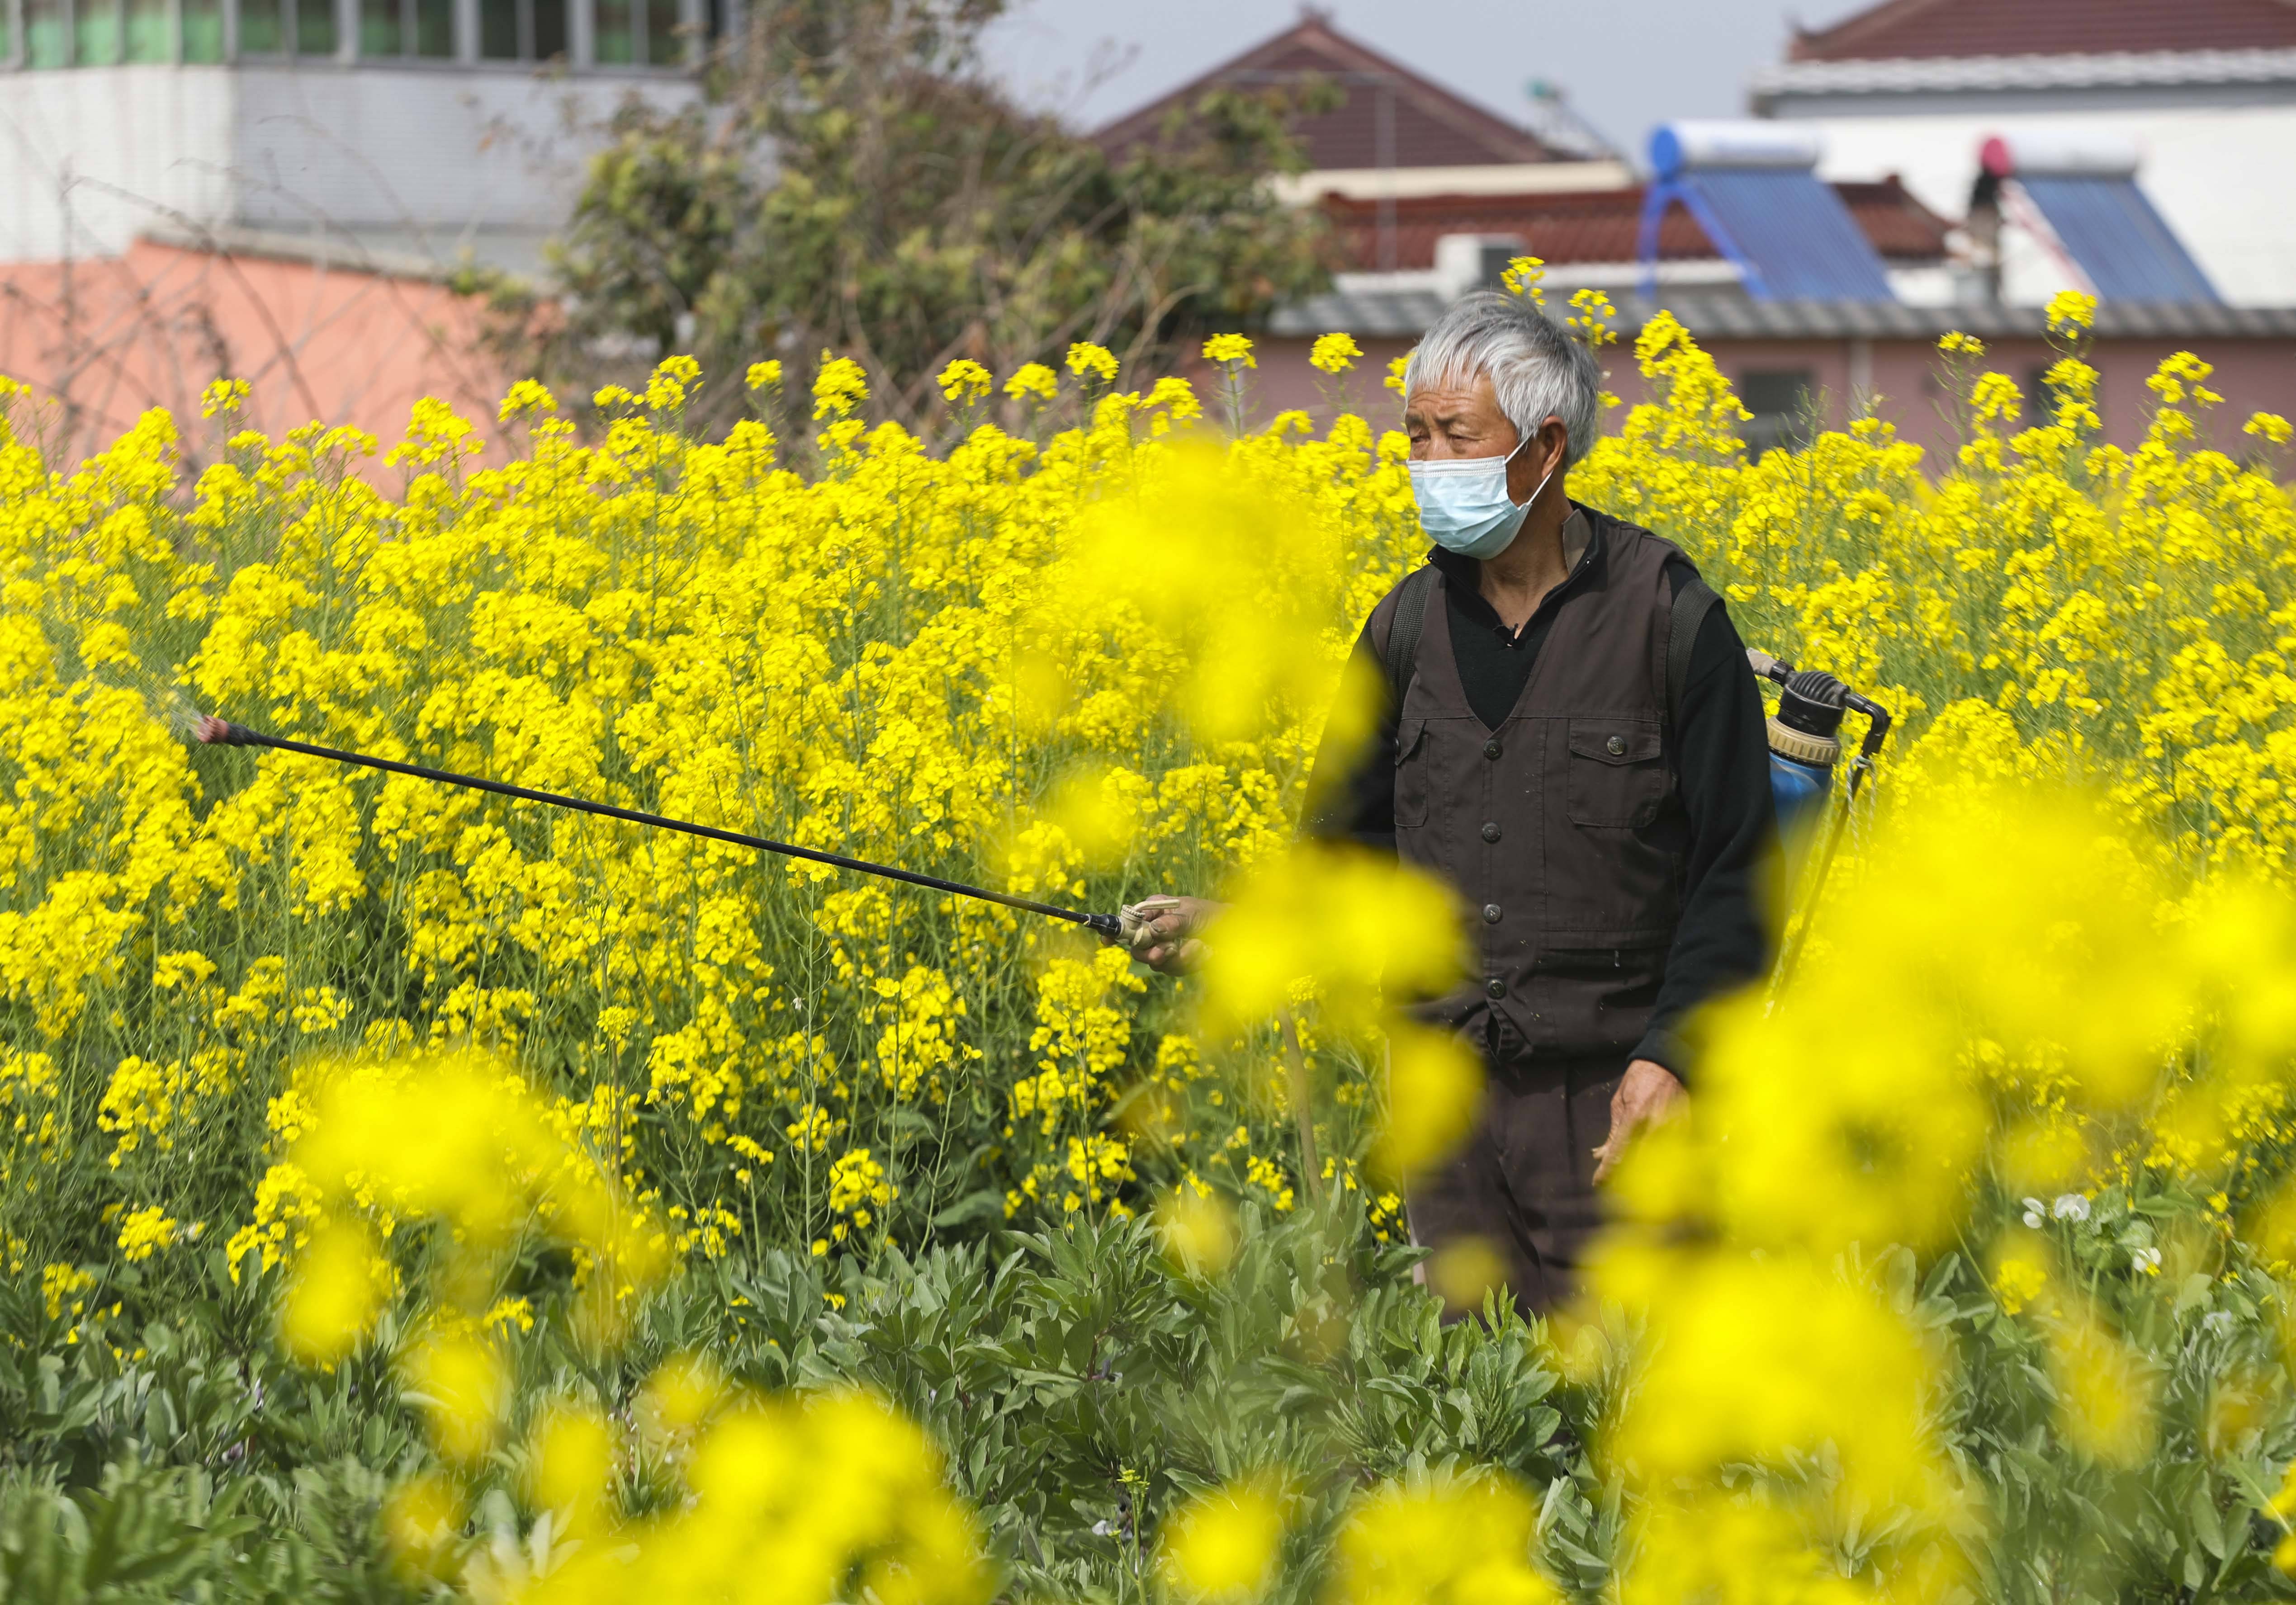
[[[1267,418],[1286,406],[1304,406],[1316,418],[1332,409],[1325,400],[1322,374],[1306,365],[1311,340],[1261,340],[1254,356],[1258,370],[1251,374],[1251,416]],[[1401,402],[1394,390],[1380,386],[1389,358],[1410,351],[1410,340],[1359,340],[1364,360],[1348,374],[1350,397],[1378,425],[1401,427]],[[1722,372],[1733,383],[1761,370],[1805,370],[1830,402],[1830,422],[1846,422],[1851,393],[1851,344],[1846,340],[1708,340]],[[2193,351],[2216,367],[2209,386],[2225,402],[2204,422],[2211,445],[2234,457],[2257,445],[2241,434],[2250,413],[2268,411],[2296,418],[2296,340],[2105,340],[2089,351],[2096,365],[2099,400],[2105,420],[2105,439],[2115,445],[2133,445],[2144,436],[2144,422],[2154,406],[2154,393],[2144,386],[2161,358],[2174,351]],[[1979,370],[2004,372],[2025,383],[2030,370],[2046,367],[2055,354],[2041,340],[2002,340],[1986,347]],[[1635,372],[1630,342],[1605,349],[1609,388],[1626,404],[1646,400],[1642,374]],[[1931,457],[1952,452],[1956,439],[1942,416],[1947,372],[1938,349],[1926,340],[1876,340],[1871,344],[1871,386],[1880,395],[1878,413],[1896,425],[1899,434],[1915,441]],[[1199,390],[1210,397],[1217,377],[1192,374]],[[1345,397],[1343,397],[1345,400]],[[1612,413],[1616,422],[1619,413]],[[1936,464],[1933,464],[1936,466]]]

